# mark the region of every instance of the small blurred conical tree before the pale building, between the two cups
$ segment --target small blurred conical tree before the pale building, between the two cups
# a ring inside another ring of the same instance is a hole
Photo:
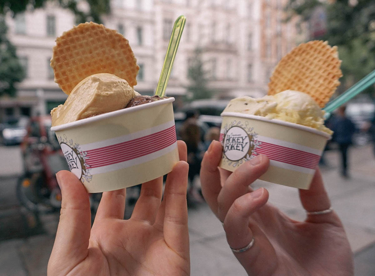
[[[212,91],[207,87],[207,71],[204,70],[204,63],[201,57],[201,49],[195,50],[193,60],[189,64],[189,80],[190,86],[187,90],[193,94],[192,99],[208,99],[211,98]]]

